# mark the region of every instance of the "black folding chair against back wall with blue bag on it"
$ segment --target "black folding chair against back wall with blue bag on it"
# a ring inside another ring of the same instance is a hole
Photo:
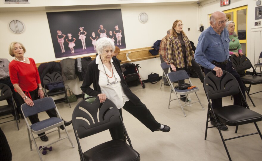
[[[49,90],[47,86],[48,83],[55,83],[55,82],[60,82],[60,81],[63,83],[63,88],[60,88],[56,91],[48,91],[48,92],[46,91],[46,90]],[[60,99],[60,101],[56,100],[56,102],[59,103],[59,102],[64,102],[65,100],[67,100],[69,107],[71,108],[70,102],[66,94],[65,83],[64,83],[62,75],[60,75],[58,72],[48,72],[43,78],[43,85],[45,89],[45,94],[48,97],[54,97],[54,96],[65,94],[66,96],[64,100]]]

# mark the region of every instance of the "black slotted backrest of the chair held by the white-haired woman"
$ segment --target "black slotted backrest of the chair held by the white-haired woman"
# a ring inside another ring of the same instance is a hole
[[[107,98],[104,103],[100,103],[97,97],[90,104],[86,99],[77,104],[72,114],[72,124],[78,138],[85,138],[121,124],[120,113],[111,100]]]

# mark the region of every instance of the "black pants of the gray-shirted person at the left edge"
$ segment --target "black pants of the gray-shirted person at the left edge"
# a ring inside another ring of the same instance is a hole
[[[8,77],[6,79],[0,79],[0,83],[3,83],[3,84],[10,87],[10,89],[13,92],[13,98],[15,100],[17,111],[18,111],[18,113],[21,113],[21,104],[19,103],[19,100],[17,99],[17,97],[15,97],[15,88],[14,88],[13,84],[11,83],[10,77]],[[7,99],[7,103],[8,103],[8,105],[13,105],[12,98]],[[15,116],[15,111],[13,111],[12,114]]]

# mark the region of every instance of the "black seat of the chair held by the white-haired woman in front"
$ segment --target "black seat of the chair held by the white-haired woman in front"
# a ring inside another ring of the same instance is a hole
[[[118,139],[102,143],[84,152],[87,161],[139,161],[140,155],[126,142]]]

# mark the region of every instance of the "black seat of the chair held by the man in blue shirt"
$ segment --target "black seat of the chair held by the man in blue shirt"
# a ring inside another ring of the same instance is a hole
[[[215,108],[214,113],[219,121],[229,126],[238,126],[262,120],[262,115],[238,105]]]

